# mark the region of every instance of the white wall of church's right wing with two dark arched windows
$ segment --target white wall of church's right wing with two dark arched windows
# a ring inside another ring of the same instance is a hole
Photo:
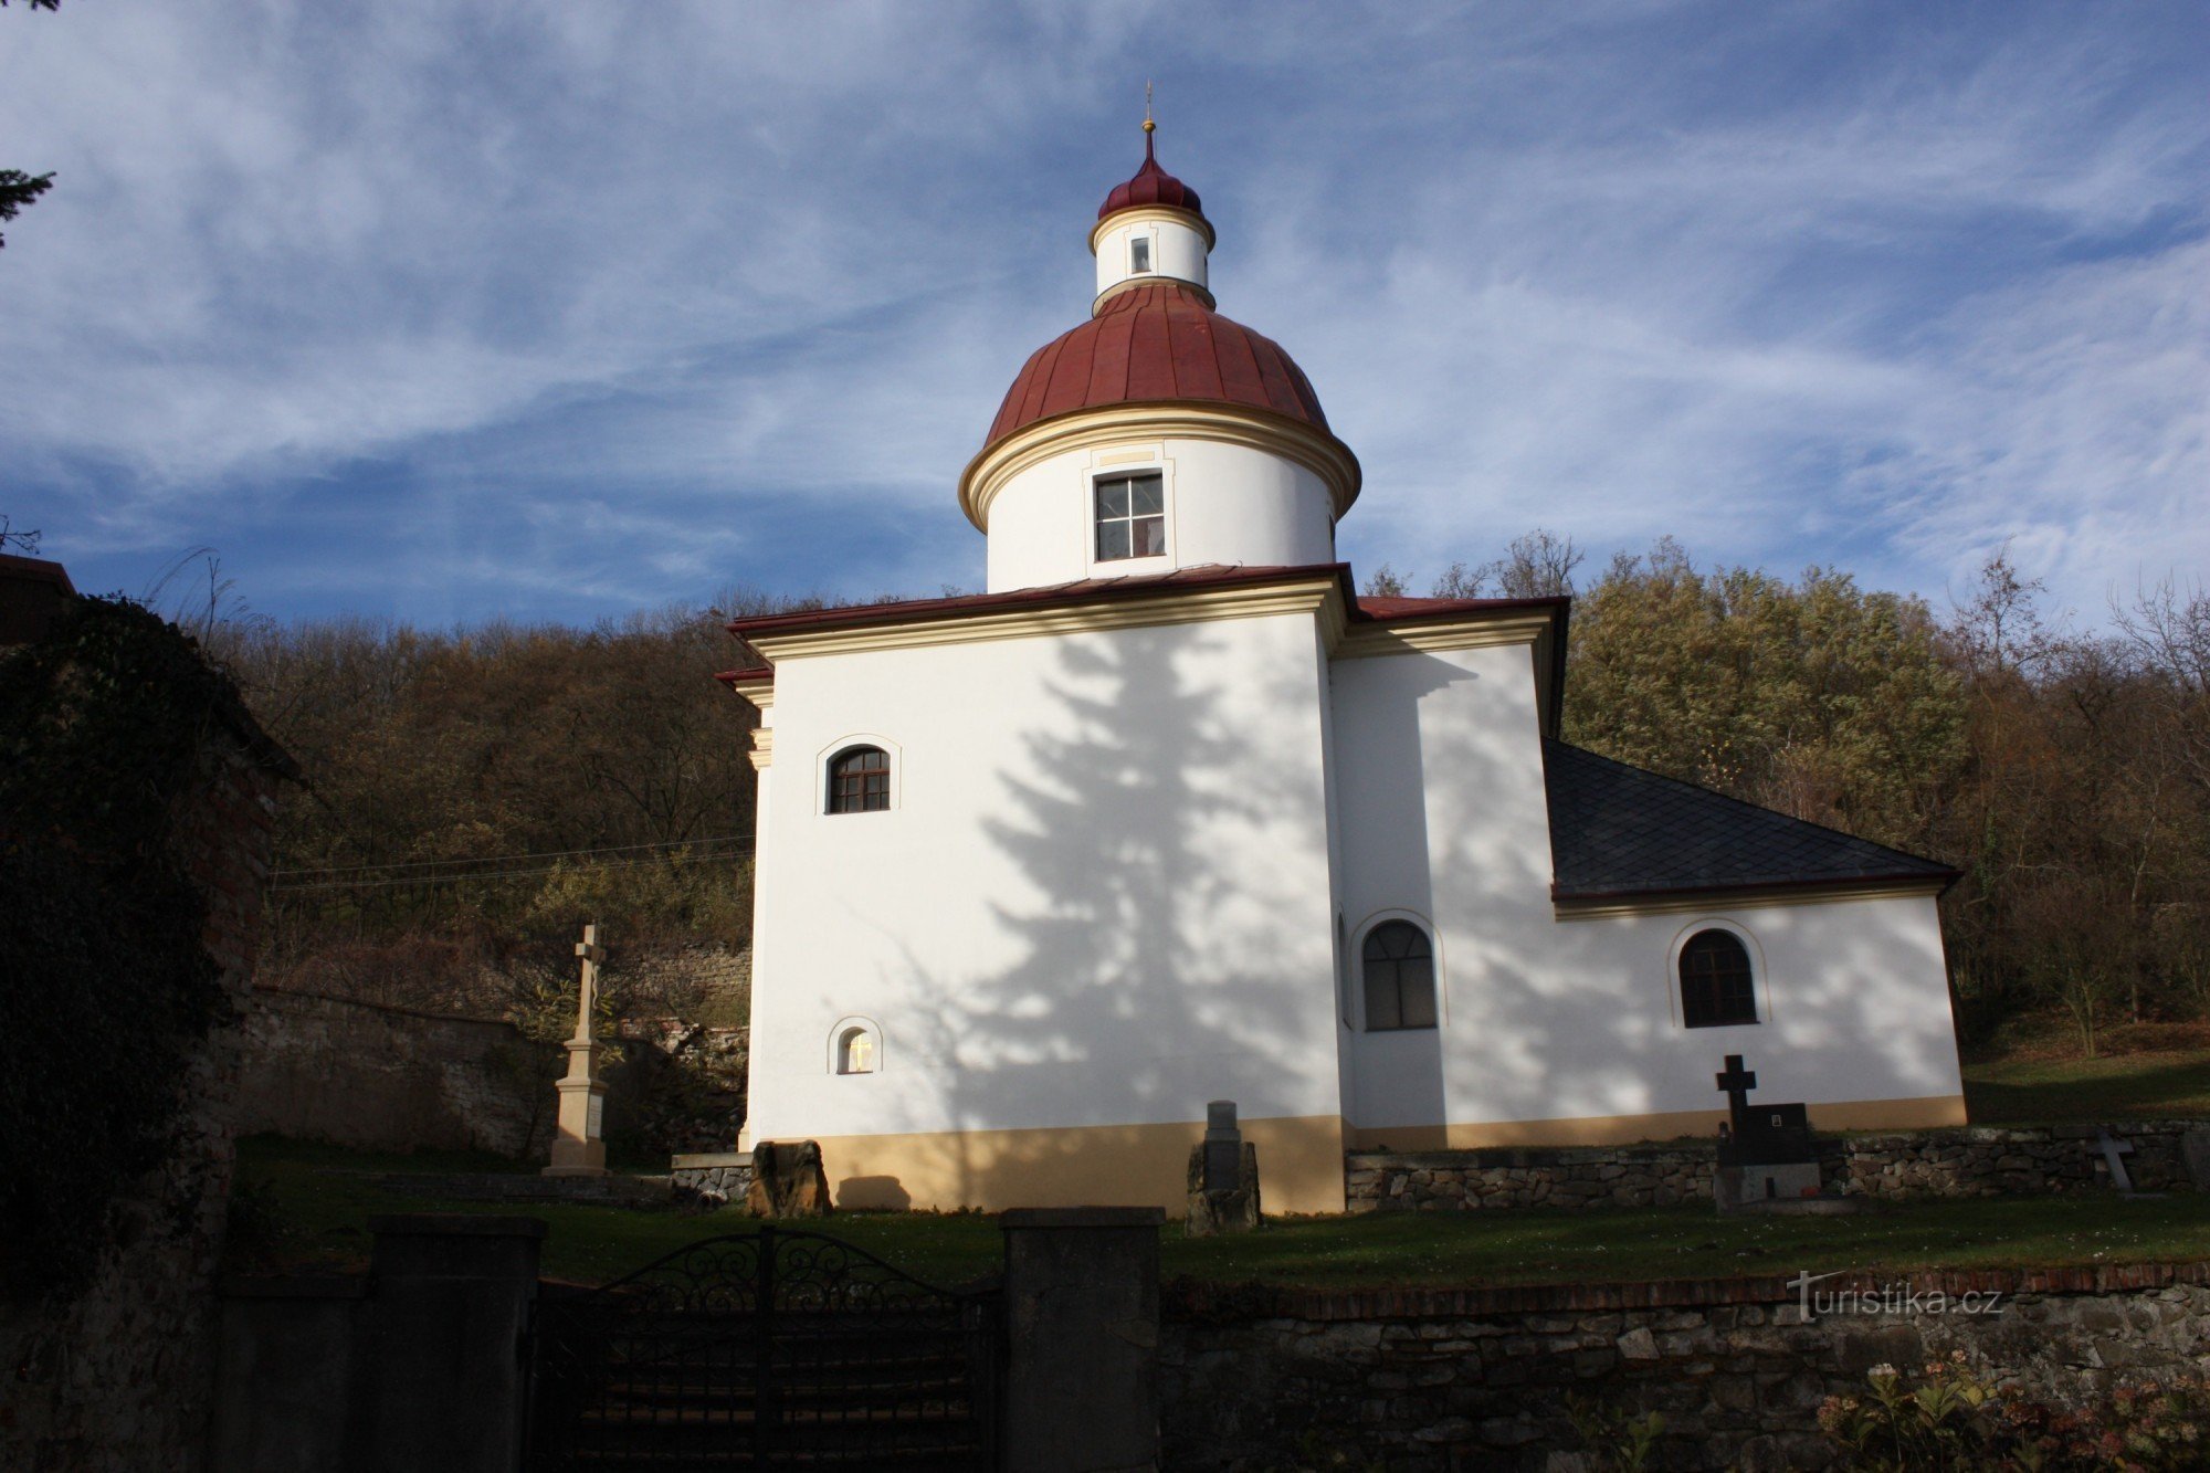
[[[1392,1148],[1708,1132],[1726,1053],[1828,1128],[1956,1124],[1929,896],[1560,920],[1525,646],[1335,664],[1350,982],[1364,927],[1434,924],[1441,1026],[1361,1033],[1350,1117]],[[1757,960],[1759,1024],[1686,1028],[1677,942],[1711,922]]]

